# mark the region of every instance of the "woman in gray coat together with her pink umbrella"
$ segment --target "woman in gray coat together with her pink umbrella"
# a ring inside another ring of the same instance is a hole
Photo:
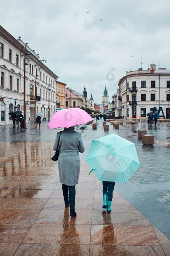
[[[68,108],[57,111],[48,124],[51,129],[64,128],[58,132],[53,149],[59,146],[58,169],[65,207],[70,205],[70,216],[75,212],[75,186],[79,181],[80,157],[79,152],[85,151],[84,143],[79,132],[74,130],[75,125],[86,124],[93,119],[82,109]]]

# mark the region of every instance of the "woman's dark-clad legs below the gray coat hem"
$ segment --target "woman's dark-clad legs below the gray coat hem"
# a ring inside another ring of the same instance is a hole
[[[75,210],[75,195],[76,195],[75,186],[67,186],[65,184],[62,184],[62,192],[63,192],[65,204],[69,203],[70,211],[74,211]],[[69,199],[68,199],[68,196],[69,196]]]

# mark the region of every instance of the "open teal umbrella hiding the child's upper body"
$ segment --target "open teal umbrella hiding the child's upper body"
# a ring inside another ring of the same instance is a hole
[[[114,133],[92,141],[86,162],[100,181],[121,183],[140,166],[135,144]]]

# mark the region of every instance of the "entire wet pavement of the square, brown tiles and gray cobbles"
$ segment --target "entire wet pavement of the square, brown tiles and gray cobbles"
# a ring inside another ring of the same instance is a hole
[[[64,208],[57,163],[50,160],[61,129],[41,126],[0,126],[0,255],[170,255],[170,123],[149,129],[145,121],[119,129],[109,124],[104,131],[100,120],[96,130],[77,127],[86,151],[73,218]],[[143,146],[137,129],[147,129],[155,144]],[[102,183],[88,175],[85,159],[92,140],[111,133],[135,143],[141,166],[126,184],[116,183],[107,214]]]

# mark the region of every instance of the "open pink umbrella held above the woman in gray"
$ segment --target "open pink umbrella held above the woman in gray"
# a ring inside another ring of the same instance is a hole
[[[57,111],[51,117],[48,123],[48,127],[51,129],[56,128],[69,128],[71,126],[86,124],[92,121],[92,117],[83,109],[80,108],[68,108]]]

